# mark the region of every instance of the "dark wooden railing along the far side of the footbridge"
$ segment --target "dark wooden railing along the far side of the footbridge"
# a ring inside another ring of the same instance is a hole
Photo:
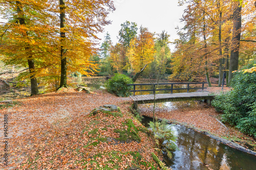
[[[179,84],[186,84],[187,87],[186,88],[174,88],[174,85],[179,85]],[[190,84],[202,84],[202,87],[194,87],[191,88],[189,87]],[[156,91],[161,91],[161,90],[170,90],[170,93],[173,93],[173,90],[187,90],[187,92],[189,92],[189,90],[191,89],[202,89],[202,91],[204,89],[206,89],[207,87],[204,86],[204,84],[208,84],[207,82],[196,82],[196,83],[147,83],[147,84],[127,84],[128,86],[133,86],[133,90],[130,90],[131,92],[133,92],[133,95],[136,95],[135,93],[138,91],[153,91],[153,94],[156,93]],[[153,89],[148,89],[148,90],[136,90],[136,86],[144,86],[144,85],[152,85]],[[171,85],[170,88],[165,88],[165,89],[156,89],[157,85]]]

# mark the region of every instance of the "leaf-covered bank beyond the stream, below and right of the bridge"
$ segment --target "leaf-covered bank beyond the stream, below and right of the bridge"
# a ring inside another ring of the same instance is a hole
[[[222,89],[217,84],[207,87],[204,91],[219,94],[231,90],[230,87]],[[141,105],[139,107],[141,115],[153,117],[153,104]],[[185,125],[200,132],[207,132],[211,135],[227,139],[243,147],[256,151],[256,140],[245,135],[235,127],[221,123],[221,113],[214,107],[202,102],[174,102],[171,106],[163,104],[156,105],[156,115],[158,118],[166,118],[172,123]]]

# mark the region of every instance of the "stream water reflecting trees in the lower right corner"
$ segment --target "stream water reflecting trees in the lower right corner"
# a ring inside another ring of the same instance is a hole
[[[147,126],[152,118],[145,117]],[[180,151],[173,152],[173,158],[164,158],[172,169],[256,169],[256,156],[228,147],[202,133],[185,126],[173,126]]]

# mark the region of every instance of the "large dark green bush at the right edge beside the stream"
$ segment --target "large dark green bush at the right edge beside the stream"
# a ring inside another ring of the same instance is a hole
[[[253,64],[256,61],[243,69],[251,68]],[[233,90],[217,95],[212,106],[224,113],[224,123],[256,137],[256,72],[235,72],[231,86]]]

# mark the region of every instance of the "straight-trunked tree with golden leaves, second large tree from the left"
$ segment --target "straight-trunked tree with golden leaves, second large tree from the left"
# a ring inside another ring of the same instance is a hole
[[[84,71],[85,67],[90,66],[96,70],[94,64],[89,61],[90,55],[95,54],[93,40],[98,39],[96,33],[103,31],[102,26],[111,23],[106,20],[106,16],[114,10],[114,5],[112,0],[92,2],[79,0],[67,3],[65,0],[59,0],[59,4],[55,4],[49,11],[54,13],[57,7],[59,7],[60,13],[61,76],[59,88],[61,88],[67,87],[67,58],[73,61],[70,63],[80,66],[81,74],[83,72],[85,75],[89,75],[88,71]],[[66,17],[66,14],[69,18]],[[56,16],[54,19],[57,19]],[[77,63],[79,64],[77,65]],[[91,71],[93,72],[93,70]]]

